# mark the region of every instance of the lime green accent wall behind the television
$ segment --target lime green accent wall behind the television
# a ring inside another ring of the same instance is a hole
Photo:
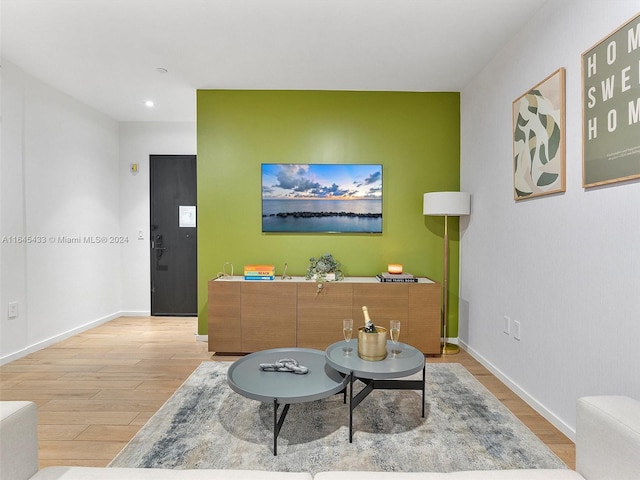
[[[442,281],[443,217],[422,214],[422,195],[460,189],[457,92],[197,92],[198,333],[207,334],[207,282],[231,262],[304,275],[332,253],[347,276],[389,263]],[[263,234],[262,163],[383,165],[383,233]],[[458,220],[449,221],[449,336],[458,328]]]

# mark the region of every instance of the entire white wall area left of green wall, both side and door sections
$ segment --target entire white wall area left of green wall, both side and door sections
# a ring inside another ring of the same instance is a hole
[[[196,129],[118,124],[7,61],[1,86],[6,363],[120,315],[149,314],[149,155],[195,154]],[[25,237],[43,243],[16,243]],[[106,244],[90,243],[102,237]],[[16,319],[8,318],[10,302],[18,302]]]

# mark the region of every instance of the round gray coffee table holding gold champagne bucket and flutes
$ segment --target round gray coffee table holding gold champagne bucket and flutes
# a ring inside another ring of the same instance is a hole
[[[327,348],[325,356],[327,364],[347,375],[349,381],[349,442],[353,441],[353,410],[375,389],[386,390],[422,390],[422,417],[424,417],[424,393],[426,363],[424,354],[417,348],[398,343],[393,345],[387,341],[387,357],[384,360],[363,360],[358,356],[357,342],[349,342],[353,348],[351,355],[345,356],[347,342],[336,342]],[[391,356],[391,349],[400,350],[396,357]],[[413,375],[422,370],[422,380],[406,380],[402,377]],[[394,380],[397,379],[397,380]],[[360,380],[365,387],[353,396],[353,382]]]

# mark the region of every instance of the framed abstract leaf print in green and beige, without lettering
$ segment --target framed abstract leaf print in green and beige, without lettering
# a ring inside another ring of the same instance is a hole
[[[565,191],[564,68],[513,102],[513,196]]]

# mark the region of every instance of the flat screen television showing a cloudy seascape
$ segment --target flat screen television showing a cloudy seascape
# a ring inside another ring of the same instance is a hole
[[[265,233],[382,233],[382,165],[262,164]]]

